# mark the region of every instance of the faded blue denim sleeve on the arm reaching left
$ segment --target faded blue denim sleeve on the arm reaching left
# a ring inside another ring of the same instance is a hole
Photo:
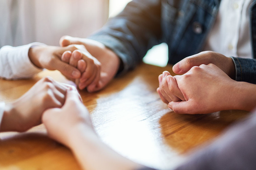
[[[122,60],[123,71],[132,69],[161,37],[161,1],[133,0],[110,18],[89,39],[103,43]]]

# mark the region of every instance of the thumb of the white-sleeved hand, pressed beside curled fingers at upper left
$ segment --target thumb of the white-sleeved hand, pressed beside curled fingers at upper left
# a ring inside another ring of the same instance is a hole
[[[54,64],[55,64],[54,68],[56,70],[59,70],[63,75],[65,75],[68,78],[76,79],[76,78],[80,78],[81,76],[81,73],[77,68],[63,61],[56,60]]]

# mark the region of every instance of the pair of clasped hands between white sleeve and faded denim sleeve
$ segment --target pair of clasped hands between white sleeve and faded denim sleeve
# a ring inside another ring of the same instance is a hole
[[[119,58],[103,44],[90,39],[63,36],[60,47],[35,46],[29,49],[29,59],[39,67],[59,70],[88,92],[104,88],[119,68]],[[104,63],[104,65],[101,65]]]

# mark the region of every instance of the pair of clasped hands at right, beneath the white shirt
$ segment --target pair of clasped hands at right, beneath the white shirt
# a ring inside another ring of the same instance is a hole
[[[204,114],[228,110],[236,87],[231,58],[205,51],[187,57],[158,77],[157,92],[168,108],[179,114]]]

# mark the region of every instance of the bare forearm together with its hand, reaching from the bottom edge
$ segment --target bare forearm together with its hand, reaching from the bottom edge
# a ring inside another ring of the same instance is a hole
[[[83,169],[128,170],[142,167],[100,140],[93,130],[89,112],[74,90],[68,89],[62,108],[46,110],[42,122],[49,137],[69,147]]]

